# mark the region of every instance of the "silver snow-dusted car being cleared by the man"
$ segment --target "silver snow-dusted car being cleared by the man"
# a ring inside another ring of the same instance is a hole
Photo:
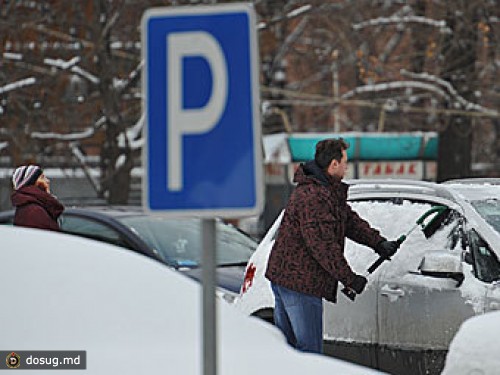
[[[388,239],[406,239],[372,274],[377,255],[347,241],[349,263],[369,283],[355,301],[339,292],[325,303],[325,352],[394,374],[439,374],[460,324],[500,307],[497,182],[349,181],[353,209]],[[438,212],[417,223],[429,211]],[[235,304],[267,320],[274,299],[264,272],[280,221],[250,258]]]

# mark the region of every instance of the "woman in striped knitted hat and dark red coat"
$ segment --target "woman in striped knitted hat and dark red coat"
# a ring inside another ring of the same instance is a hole
[[[14,225],[60,231],[57,219],[64,206],[50,193],[50,180],[37,165],[23,165],[12,175],[16,208]]]

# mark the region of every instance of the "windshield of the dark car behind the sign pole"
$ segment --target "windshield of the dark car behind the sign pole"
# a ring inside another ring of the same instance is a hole
[[[134,216],[119,219],[174,267],[201,264],[201,220]],[[217,258],[220,266],[246,265],[257,242],[236,228],[217,222]]]

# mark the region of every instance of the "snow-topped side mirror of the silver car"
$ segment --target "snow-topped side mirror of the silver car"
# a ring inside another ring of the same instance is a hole
[[[418,268],[424,276],[455,280],[457,288],[465,279],[460,258],[446,250],[427,252]]]

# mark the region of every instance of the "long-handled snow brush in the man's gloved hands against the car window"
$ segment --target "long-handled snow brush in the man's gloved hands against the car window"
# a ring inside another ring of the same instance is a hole
[[[408,236],[418,227],[422,229],[425,238],[430,238],[436,231],[441,227],[441,224],[446,220],[448,215],[450,214],[451,209],[446,206],[434,206],[431,209],[424,212],[422,216],[418,218],[415,225],[411,227],[411,229],[406,232],[406,234],[402,234],[396,242],[398,243],[398,248],[401,244],[408,238]],[[427,224],[424,223],[425,219],[427,219],[432,214],[435,214],[432,220],[430,220]],[[391,260],[391,258],[380,256],[373,264],[368,268],[365,277],[372,274],[382,263],[386,260]],[[351,288],[344,287],[342,289],[342,293],[344,293],[351,301],[356,299],[356,292]]]

